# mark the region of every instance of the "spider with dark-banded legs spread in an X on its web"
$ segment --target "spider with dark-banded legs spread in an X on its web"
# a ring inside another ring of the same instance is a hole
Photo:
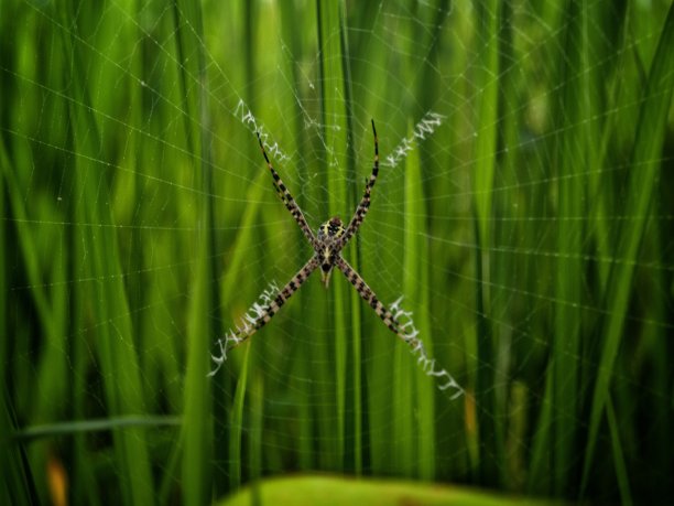
[[[259,311],[257,311],[257,317],[249,319],[244,329],[239,329],[237,332],[232,332],[232,335],[228,338],[228,342],[233,342],[233,344],[230,346],[225,346],[225,353],[247,341],[256,332],[267,325],[274,314],[281,310],[283,304],[287,302],[293,293],[295,293],[302,287],[312,272],[314,272],[314,270],[317,268],[320,269],[322,281],[327,289],[330,282],[330,274],[335,267],[339,269],[344,276],[346,276],[358,294],[368,303],[370,308],[372,308],[372,310],[374,310],[374,313],[377,313],[377,315],[383,321],[387,327],[404,340],[413,348],[421,348],[421,341],[415,337],[416,332],[405,332],[405,326],[401,325],[391,310],[389,310],[379,301],[379,299],[377,299],[377,295],[372,289],[368,287],[360,274],[356,272],[356,270],[341,256],[341,250],[358,232],[358,228],[362,224],[362,220],[370,208],[370,193],[372,192],[372,186],[374,186],[377,175],[379,174],[379,144],[377,141],[374,120],[372,120],[372,133],[374,136],[374,163],[372,165],[372,173],[366,183],[365,193],[360,203],[358,204],[358,207],[356,208],[356,213],[354,213],[354,216],[351,217],[351,220],[345,227],[341,219],[338,216],[334,216],[320,225],[317,234],[314,235],[306,223],[306,218],[304,217],[302,209],[291,195],[283,181],[281,181],[279,173],[272,166],[269,157],[267,155],[267,151],[264,150],[262,138],[260,137],[260,133],[257,132],[258,142],[260,143],[260,149],[264,155],[267,166],[271,172],[274,189],[276,190],[281,201],[283,201],[283,204],[285,204],[285,207],[290,214],[293,215],[293,218],[295,218],[295,222],[297,222],[297,225],[300,225],[300,228],[312,246],[314,254],[304,265],[304,267],[300,269],[300,271],[275,294],[274,298],[269,298],[265,306],[259,308]],[[394,304],[392,309],[395,306],[396,304]]]

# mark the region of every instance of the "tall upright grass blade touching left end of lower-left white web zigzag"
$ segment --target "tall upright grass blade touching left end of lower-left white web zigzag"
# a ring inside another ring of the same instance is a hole
[[[192,153],[196,203],[194,278],[187,322],[187,369],[184,390],[182,443],[183,497],[188,504],[206,504],[211,494],[213,413],[210,379],[211,344],[219,329],[215,277],[214,191],[210,162],[210,119],[204,47],[202,7],[189,1],[174,4],[174,22],[182,86],[186,149]]]

